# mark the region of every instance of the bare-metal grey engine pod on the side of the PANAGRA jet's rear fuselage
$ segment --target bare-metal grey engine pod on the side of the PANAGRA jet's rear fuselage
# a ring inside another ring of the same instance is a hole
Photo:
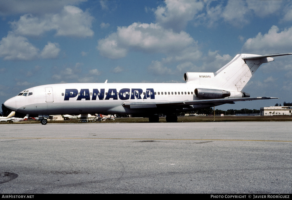
[[[229,91],[207,88],[196,88],[195,96],[202,99],[220,99],[230,96]]]

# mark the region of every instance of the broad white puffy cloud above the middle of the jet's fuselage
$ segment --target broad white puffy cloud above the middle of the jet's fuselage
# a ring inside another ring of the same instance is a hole
[[[117,32],[98,41],[100,54],[107,58],[125,57],[130,49],[147,53],[174,53],[194,44],[194,40],[184,31],[175,33],[158,24],[133,23],[128,27],[118,27]]]

